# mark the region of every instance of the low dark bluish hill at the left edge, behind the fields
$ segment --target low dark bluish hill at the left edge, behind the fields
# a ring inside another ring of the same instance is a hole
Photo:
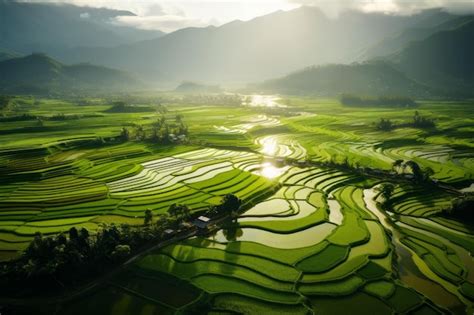
[[[134,87],[138,87],[138,82],[125,72],[90,64],[67,66],[44,54],[0,61],[0,93],[45,94]]]

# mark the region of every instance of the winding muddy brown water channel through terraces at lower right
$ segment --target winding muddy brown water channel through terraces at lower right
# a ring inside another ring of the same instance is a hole
[[[466,306],[456,295],[432,281],[420,271],[415,263],[415,254],[400,242],[401,235],[394,223],[377,208],[373,200],[375,195],[376,193],[372,189],[366,189],[364,191],[364,202],[367,209],[377,216],[380,223],[392,232],[392,243],[398,257],[397,269],[400,280],[454,314],[465,314]]]

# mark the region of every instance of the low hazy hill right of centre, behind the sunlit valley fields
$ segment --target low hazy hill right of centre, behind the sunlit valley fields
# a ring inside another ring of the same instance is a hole
[[[344,93],[417,97],[430,94],[429,88],[382,61],[309,67],[251,88],[270,93],[331,97]]]

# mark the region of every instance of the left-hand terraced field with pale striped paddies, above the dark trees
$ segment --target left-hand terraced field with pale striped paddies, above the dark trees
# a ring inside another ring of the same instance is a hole
[[[74,162],[62,152],[63,160],[53,154],[48,161],[38,158],[44,163],[41,168],[33,164],[28,171],[8,173],[6,178],[38,174],[38,179],[2,189],[0,250],[24,248],[37,231],[57,234],[72,226],[95,230],[101,222],[114,220],[136,224],[145,210],[163,214],[173,203],[200,211],[232,193],[252,204],[279,185],[246,171],[261,169],[256,154],[192,149],[157,158],[123,146],[100,154],[86,151]],[[114,155],[130,158],[123,165]]]

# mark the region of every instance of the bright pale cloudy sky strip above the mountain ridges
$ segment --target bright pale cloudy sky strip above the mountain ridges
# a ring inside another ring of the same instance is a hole
[[[114,23],[165,32],[196,26],[219,26],[233,20],[250,20],[278,10],[317,6],[328,16],[345,9],[387,14],[411,14],[442,7],[452,12],[474,12],[474,0],[21,0],[71,3],[80,6],[124,9],[137,16],[118,17]],[[87,12],[84,12],[87,17]]]

